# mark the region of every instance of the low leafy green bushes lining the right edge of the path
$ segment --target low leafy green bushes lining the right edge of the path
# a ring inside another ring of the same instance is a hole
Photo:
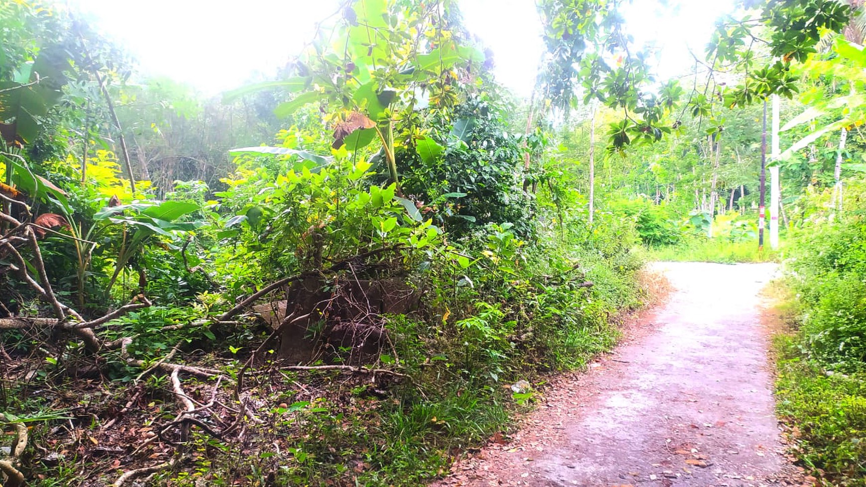
[[[832,482],[864,485],[866,221],[863,185],[850,183],[846,212],[814,213],[785,261],[798,331],[782,344],[777,388],[805,465]]]

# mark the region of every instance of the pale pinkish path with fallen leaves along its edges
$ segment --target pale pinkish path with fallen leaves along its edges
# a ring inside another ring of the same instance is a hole
[[[437,485],[800,484],[773,413],[759,291],[769,264],[660,264],[675,291],[512,439]]]

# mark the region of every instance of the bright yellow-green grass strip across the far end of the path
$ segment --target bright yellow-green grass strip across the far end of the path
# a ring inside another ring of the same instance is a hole
[[[722,239],[689,238],[671,246],[648,248],[651,260],[670,262],[718,262],[721,264],[778,262],[780,251],[766,245],[758,249],[758,240],[732,242]]]

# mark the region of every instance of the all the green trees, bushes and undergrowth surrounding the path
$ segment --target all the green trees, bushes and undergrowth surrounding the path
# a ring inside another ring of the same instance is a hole
[[[458,3],[404,0],[205,99],[66,3],[0,3],[4,487],[423,484],[610,349],[647,260],[789,253],[780,408],[856,484],[864,58],[834,33],[863,5],[753,3],[682,85],[621,2],[579,5],[538,3],[531,99]],[[786,244],[759,253],[772,95]]]

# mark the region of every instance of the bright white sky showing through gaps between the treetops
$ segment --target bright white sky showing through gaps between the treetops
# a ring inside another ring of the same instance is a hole
[[[68,0],[121,42],[145,74],[169,76],[206,95],[271,74],[313,36],[338,0]],[[686,74],[687,46],[702,54],[714,20],[734,0],[634,0],[627,30],[662,48],[662,78]],[[461,0],[469,31],[494,50],[495,75],[520,96],[532,92],[544,45],[533,0]]]

